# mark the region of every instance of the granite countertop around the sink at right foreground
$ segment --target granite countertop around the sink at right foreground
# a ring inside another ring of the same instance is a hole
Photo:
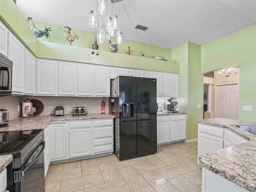
[[[230,124],[256,126],[256,122],[225,118],[200,119],[197,122],[226,128],[248,140],[246,143],[202,154],[199,156],[199,161],[202,167],[248,191],[256,192],[256,136],[230,126]]]

